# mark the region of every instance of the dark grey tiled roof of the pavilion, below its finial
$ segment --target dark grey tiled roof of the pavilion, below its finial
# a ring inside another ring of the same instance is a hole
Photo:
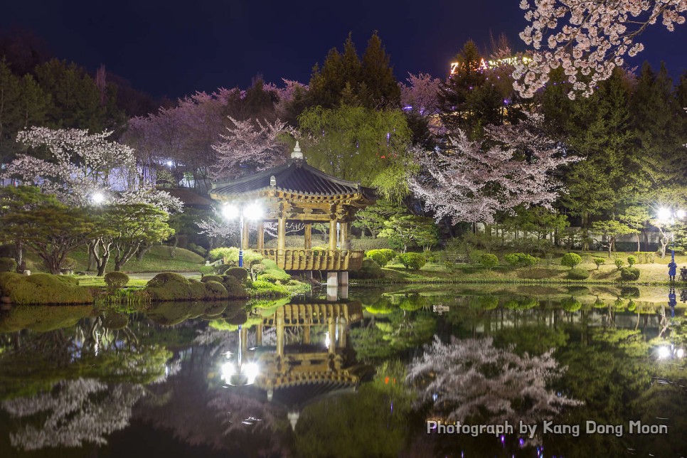
[[[270,179],[275,177],[275,186]],[[316,196],[341,196],[361,193],[365,198],[375,198],[373,188],[361,186],[356,181],[346,181],[309,166],[302,159],[292,159],[281,166],[246,176],[234,181],[215,183],[210,191],[215,196],[230,196],[267,189]]]

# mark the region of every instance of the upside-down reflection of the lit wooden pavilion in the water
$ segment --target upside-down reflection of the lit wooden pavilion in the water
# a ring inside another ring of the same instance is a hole
[[[240,329],[239,354],[257,366],[246,393],[289,410],[295,427],[299,411],[322,398],[355,393],[371,379],[372,366],[358,363],[348,345],[348,330],[363,318],[360,302],[292,302],[255,325],[255,347],[247,348],[246,326]],[[262,336],[275,329],[276,344]]]

